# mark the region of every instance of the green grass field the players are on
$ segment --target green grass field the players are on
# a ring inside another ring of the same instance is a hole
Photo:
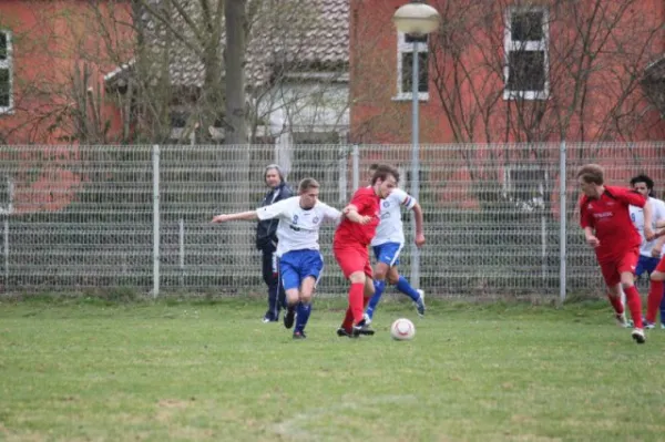
[[[637,346],[606,302],[387,302],[357,340],[342,306],[293,341],[263,300],[4,301],[0,440],[665,439],[665,330]],[[390,339],[400,316],[413,341]]]

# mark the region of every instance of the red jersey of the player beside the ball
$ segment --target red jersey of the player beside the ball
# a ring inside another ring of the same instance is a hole
[[[360,216],[371,216],[372,218],[369,223],[362,225],[352,223],[345,216],[335,232],[332,243],[336,245],[355,244],[367,247],[375,237],[377,226],[379,225],[380,199],[375,194],[372,187],[362,187],[356,191],[349,204],[358,207]]]

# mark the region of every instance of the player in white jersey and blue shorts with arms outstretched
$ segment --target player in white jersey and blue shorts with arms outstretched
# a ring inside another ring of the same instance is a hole
[[[213,218],[213,223],[279,219],[277,257],[287,302],[284,326],[290,329],[294,320],[296,321],[294,339],[306,338],[305,326],[311,312],[311,296],[324,268],[318,244],[319,228],[326,220],[339,222],[341,218],[341,213],[318,201],[318,195],[319,184],[316,179],[305,178],[298,185],[298,196],[256,210],[217,215]]]

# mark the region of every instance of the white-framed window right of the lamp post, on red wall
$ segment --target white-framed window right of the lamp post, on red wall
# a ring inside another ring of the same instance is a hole
[[[545,100],[549,82],[549,14],[544,8],[510,8],[505,14],[504,100]]]

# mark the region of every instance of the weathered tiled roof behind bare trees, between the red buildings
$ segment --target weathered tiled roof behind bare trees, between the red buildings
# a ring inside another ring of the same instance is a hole
[[[252,0],[249,0],[250,2]],[[176,86],[201,88],[205,69],[191,44],[197,41],[193,28],[175,9],[172,22],[165,25],[155,19],[154,11],[162,0],[152,0],[142,19],[154,63],[168,53],[171,83]],[[185,1],[184,12],[190,18],[201,18],[201,2]],[[252,23],[246,53],[246,84],[260,88],[280,72],[339,72],[348,73],[349,63],[349,0],[273,0],[264,1]],[[201,27],[201,20],[195,22]],[[167,38],[175,34],[183,38]],[[225,45],[222,32],[219,51]],[[187,40],[188,44],[183,40]],[[133,62],[119,66],[105,75],[112,81],[126,72]],[[155,66],[155,72],[160,71]],[[348,76],[345,76],[348,78]]]

